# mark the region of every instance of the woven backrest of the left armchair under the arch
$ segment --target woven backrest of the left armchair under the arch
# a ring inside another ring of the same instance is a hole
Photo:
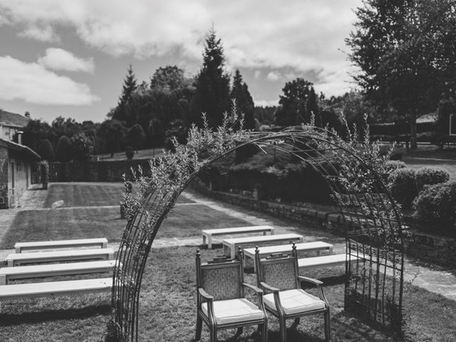
[[[201,254],[197,249],[197,289],[202,288],[214,300],[235,299],[244,297],[244,266],[242,252],[239,260],[217,257],[206,263],[201,262]]]

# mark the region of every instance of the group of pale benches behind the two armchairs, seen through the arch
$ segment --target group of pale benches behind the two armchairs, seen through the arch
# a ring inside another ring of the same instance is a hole
[[[346,254],[333,254],[333,245],[326,242],[303,242],[302,235],[274,234],[274,227],[270,226],[252,226],[237,227],[225,229],[204,229],[202,230],[203,244],[207,242],[207,247],[212,248],[212,237],[219,235],[249,234],[262,232],[263,236],[235,237],[223,239],[222,247],[224,254],[229,254],[232,259],[236,256],[238,247],[261,246],[259,249],[262,255],[274,253],[286,253],[291,251],[291,243],[295,243],[298,252],[316,252],[316,257],[307,257],[299,259],[299,269],[312,269],[321,266],[337,266],[346,263]],[[266,235],[269,232],[270,235]],[[287,243],[288,244],[284,244]],[[264,246],[278,244],[274,246]],[[327,252],[327,255],[321,255],[321,252]],[[244,248],[244,256],[254,260],[255,249]],[[351,256],[351,261],[358,258]]]

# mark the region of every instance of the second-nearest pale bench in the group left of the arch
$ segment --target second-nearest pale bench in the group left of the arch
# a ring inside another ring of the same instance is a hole
[[[39,278],[43,276],[63,276],[108,272],[115,266],[115,260],[72,262],[68,264],[43,264],[32,266],[2,267],[0,285],[13,279]]]

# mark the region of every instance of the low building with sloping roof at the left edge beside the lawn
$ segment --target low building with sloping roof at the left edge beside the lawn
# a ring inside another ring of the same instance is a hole
[[[31,148],[0,139],[0,209],[16,207],[31,185],[31,170],[41,157]]]

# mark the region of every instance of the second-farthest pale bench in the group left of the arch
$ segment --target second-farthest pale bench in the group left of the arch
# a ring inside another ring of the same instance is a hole
[[[33,252],[21,254],[8,254],[6,261],[8,266],[19,266],[21,264],[33,264],[42,262],[76,261],[90,259],[114,259],[114,251],[110,248],[101,249],[73,249],[54,252]]]

